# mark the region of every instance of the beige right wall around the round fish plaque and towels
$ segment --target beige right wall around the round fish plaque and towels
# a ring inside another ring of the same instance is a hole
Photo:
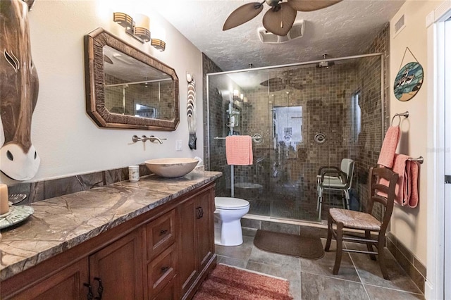
[[[404,61],[404,51],[409,47],[416,60],[423,66],[426,73],[427,61],[427,39],[426,39],[426,15],[438,7],[442,1],[418,1],[407,0],[390,21],[390,114],[409,111],[409,118],[401,123],[402,135],[398,153],[407,154],[414,158],[426,157],[428,145],[428,111],[432,109],[432,99],[428,99],[426,82],[427,74],[419,92],[410,101],[398,101],[393,94],[393,82],[400,70],[401,63],[405,65],[415,61],[414,57],[407,51]],[[395,36],[394,25],[404,14],[405,27]],[[410,249],[412,253],[424,265],[426,265],[426,212],[428,209],[426,168],[427,160],[421,165],[419,205],[416,208],[396,206],[391,222],[391,232],[397,239]]]

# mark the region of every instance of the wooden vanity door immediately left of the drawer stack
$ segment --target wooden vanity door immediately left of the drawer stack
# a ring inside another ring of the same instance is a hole
[[[139,228],[89,256],[94,296],[102,285],[103,299],[143,299],[142,234]]]

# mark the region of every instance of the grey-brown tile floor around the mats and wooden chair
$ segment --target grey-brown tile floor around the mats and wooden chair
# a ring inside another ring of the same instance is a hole
[[[335,242],[323,258],[309,260],[273,254],[254,246],[254,228],[243,228],[240,246],[218,246],[218,263],[235,265],[290,280],[295,299],[424,299],[424,295],[388,252],[391,280],[384,280],[376,261],[366,254],[343,253],[338,275],[332,274]],[[323,244],[326,240],[321,239]],[[348,249],[366,246],[347,243]]]

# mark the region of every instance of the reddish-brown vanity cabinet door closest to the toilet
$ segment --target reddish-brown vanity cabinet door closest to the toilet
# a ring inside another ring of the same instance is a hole
[[[196,199],[197,259],[203,270],[214,254],[214,196],[210,189]]]

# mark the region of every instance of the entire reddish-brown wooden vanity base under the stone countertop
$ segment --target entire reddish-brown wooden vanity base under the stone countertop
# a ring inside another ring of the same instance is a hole
[[[210,183],[4,280],[0,299],[190,299],[216,264],[213,212]]]

